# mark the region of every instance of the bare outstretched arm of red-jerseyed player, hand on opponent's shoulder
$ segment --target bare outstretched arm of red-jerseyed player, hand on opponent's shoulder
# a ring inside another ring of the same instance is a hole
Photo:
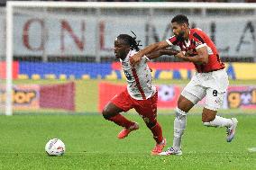
[[[164,49],[169,47],[169,43],[166,40],[151,44],[147,47],[145,47],[144,49],[140,50],[137,54],[133,55],[132,58],[130,58],[130,62],[132,64],[132,66],[137,65],[143,56],[151,53],[151,52],[155,52],[159,49]]]

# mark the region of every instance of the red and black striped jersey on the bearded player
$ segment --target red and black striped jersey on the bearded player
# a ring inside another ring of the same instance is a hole
[[[224,68],[224,63],[221,62],[215,43],[200,29],[190,29],[188,40],[178,40],[176,36],[166,40],[170,46],[179,46],[179,48],[187,52],[192,50],[197,55],[197,49],[207,47],[208,63],[206,65],[194,63],[197,72],[206,73]]]

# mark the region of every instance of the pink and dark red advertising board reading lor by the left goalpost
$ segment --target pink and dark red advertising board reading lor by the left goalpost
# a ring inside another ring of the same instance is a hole
[[[0,86],[0,107],[5,107],[5,86]],[[56,85],[14,85],[14,110],[62,109],[75,111],[74,82]]]

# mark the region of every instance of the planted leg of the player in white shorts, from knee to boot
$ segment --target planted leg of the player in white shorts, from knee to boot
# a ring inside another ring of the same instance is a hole
[[[175,110],[176,118],[174,120],[174,137],[173,146],[167,151],[160,153],[160,156],[182,155],[181,138],[187,125],[187,112],[194,106],[184,96],[180,95],[178,98],[178,107]]]

